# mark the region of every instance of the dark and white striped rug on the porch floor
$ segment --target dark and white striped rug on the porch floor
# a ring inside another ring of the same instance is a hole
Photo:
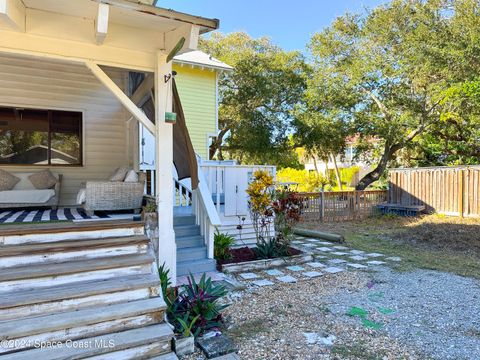
[[[0,212],[1,223],[28,223],[40,221],[58,221],[58,220],[96,220],[108,219],[105,212],[96,211],[95,215],[88,216],[82,208],[60,208],[58,210],[15,210]]]

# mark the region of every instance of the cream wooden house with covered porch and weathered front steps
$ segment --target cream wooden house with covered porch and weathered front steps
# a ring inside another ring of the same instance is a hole
[[[182,231],[198,229],[200,252],[213,254],[219,219],[196,178],[171,59],[195,51],[219,22],[151,3],[0,0],[0,169],[61,173],[59,204],[75,206],[85,184],[136,167],[141,123],[157,139],[159,238],[154,253],[132,218],[2,226],[0,337],[12,341],[0,357],[175,358],[156,267],[165,263],[175,282]],[[145,98],[148,114],[139,108]],[[174,214],[174,163],[192,178],[193,212],[184,216]],[[122,195],[131,194],[107,199]]]

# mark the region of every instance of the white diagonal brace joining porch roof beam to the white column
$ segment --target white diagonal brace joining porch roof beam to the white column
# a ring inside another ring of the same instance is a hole
[[[129,99],[127,95],[120,89],[117,84],[93,61],[86,61],[85,65],[92,72],[105,87],[122,103],[123,106],[130,112],[130,114],[142,123],[145,128],[155,135],[155,125],[148,119],[145,113],[140,110],[137,105]]]

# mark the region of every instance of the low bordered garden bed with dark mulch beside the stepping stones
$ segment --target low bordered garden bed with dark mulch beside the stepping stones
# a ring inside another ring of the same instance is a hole
[[[268,269],[274,266],[295,265],[312,261],[312,255],[305,254],[298,249],[289,248],[290,256],[272,259],[258,259],[251,248],[243,247],[231,249],[232,259],[218,260],[218,270],[229,273]]]

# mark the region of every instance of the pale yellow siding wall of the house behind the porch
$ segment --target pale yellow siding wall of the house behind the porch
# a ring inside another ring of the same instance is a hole
[[[177,64],[173,69],[193,147],[208,159],[208,135],[216,131],[216,73]]]

